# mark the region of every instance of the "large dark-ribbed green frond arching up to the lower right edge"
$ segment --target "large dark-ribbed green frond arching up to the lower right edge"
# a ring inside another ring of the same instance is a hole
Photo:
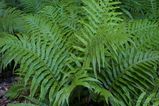
[[[114,95],[128,102],[123,96],[123,87],[133,95],[138,95],[140,90],[151,90],[154,87],[158,53],[131,49],[118,54],[117,58],[117,62],[110,61],[110,68],[106,68],[100,75],[105,87]]]

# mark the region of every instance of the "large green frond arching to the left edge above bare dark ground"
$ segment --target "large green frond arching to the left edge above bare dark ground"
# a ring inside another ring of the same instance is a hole
[[[43,79],[44,77],[48,77],[48,79],[51,78],[51,83],[53,83],[55,79],[59,79],[61,77],[60,73],[67,62],[68,55],[62,45],[57,45],[56,42],[51,44],[52,40],[45,40],[46,43],[43,43],[43,40],[44,39],[39,38],[35,42],[29,41],[25,37],[19,37],[18,40],[16,37],[10,36],[1,40],[1,50],[5,51],[3,64],[6,66],[13,59],[17,63],[22,64],[21,69],[26,73],[25,82],[34,75],[31,86],[31,91],[33,91],[32,95],[34,95],[34,92],[43,80],[47,84],[49,80],[45,81],[45,79]]]

